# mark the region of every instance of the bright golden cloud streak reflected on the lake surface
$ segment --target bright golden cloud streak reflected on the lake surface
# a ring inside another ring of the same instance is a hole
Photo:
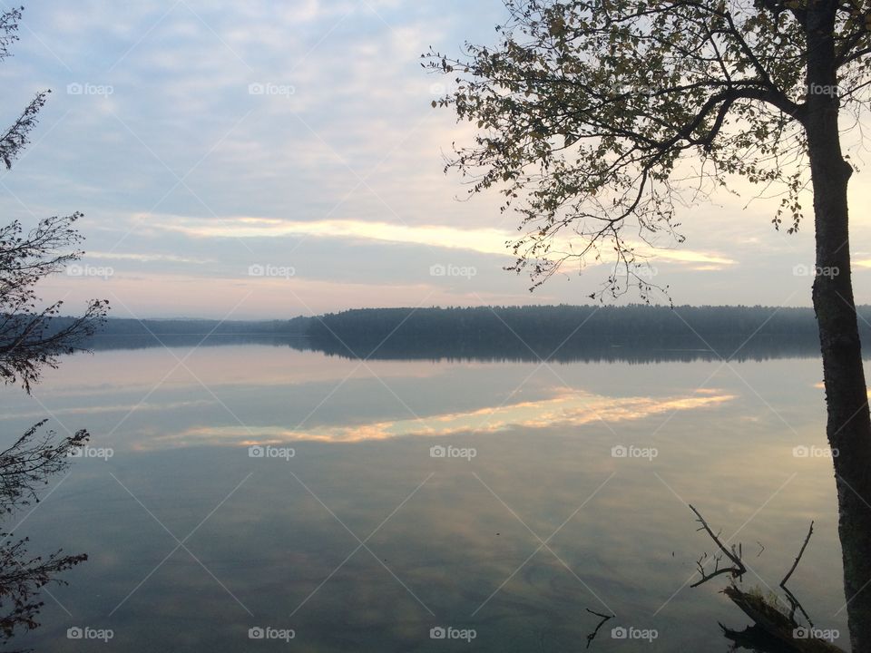
[[[475,432],[496,433],[510,428],[580,426],[592,422],[641,420],[654,414],[697,410],[724,404],[735,395],[722,392],[694,393],[673,398],[610,397],[570,388],[558,388],[553,397],[538,401],[505,404],[459,413],[429,415],[374,422],[335,424],[306,430],[284,426],[193,427],[175,434],[138,443],[138,450],[184,447],[198,444],[270,444],[291,441],[357,443],[405,436],[442,437]]]

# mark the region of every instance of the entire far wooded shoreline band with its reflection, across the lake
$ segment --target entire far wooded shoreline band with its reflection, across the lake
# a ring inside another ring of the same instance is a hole
[[[871,337],[871,307],[859,307]],[[55,318],[64,326],[67,318]],[[109,318],[93,350],[271,344],[368,359],[607,361],[817,357],[805,307],[359,308],[287,320]]]

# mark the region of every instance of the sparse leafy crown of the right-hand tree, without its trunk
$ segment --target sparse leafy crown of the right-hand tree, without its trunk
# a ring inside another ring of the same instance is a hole
[[[495,47],[431,51],[455,78],[434,102],[477,128],[446,169],[499,187],[522,216],[508,243],[533,288],[563,264],[610,260],[592,297],[655,289],[638,268],[680,235],[677,209],[741,178],[781,194],[799,228],[807,99],[866,102],[871,7],[834,9],[837,88],[806,84],[807,0],[506,0]]]

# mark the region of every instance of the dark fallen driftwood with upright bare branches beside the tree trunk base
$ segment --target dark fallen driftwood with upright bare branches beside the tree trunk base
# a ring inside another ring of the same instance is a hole
[[[807,530],[807,536],[802,542],[796,560],[793,561],[787,574],[778,584],[787,598],[789,607],[788,611],[785,611],[778,608],[777,603],[779,599],[776,595],[771,600],[765,597],[761,591],[745,591],[739,588],[736,580],[740,581],[747,571],[741,560],[741,545],[732,544],[727,548],[719,540],[719,533],[715,534],[710,529],[708,522],[704,520],[700,512],[691,505],[690,510],[695,513],[697,521],[701,524],[699,530],[707,532],[720,551],[719,554],[714,556],[714,570],[711,572],[706,572],[703,565],[703,560],[706,560],[707,554],[704,554],[697,560],[696,565],[699,568],[701,579],[694,582],[692,587],[698,587],[702,583],[708,582],[721,574],[728,573],[731,576],[730,584],[722,590],[722,593],[729,597],[732,603],[753,620],[753,626],[740,631],[728,629],[719,624],[726,638],[733,642],[733,650],[735,648],[749,648],[759,651],[759,653],[844,653],[842,648],[838,648],[827,641],[827,639],[816,637],[817,631],[814,628],[813,621],[807,615],[807,611],[796,596],[787,587],[787,581],[798,568],[798,563],[807,549],[810,536],[814,532],[813,521],[810,522],[810,528]],[[729,560],[731,564],[727,567],[720,567],[719,562],[723,558]],[[803,626],[798,622],[796,619],[797,612],[800,612],[807,621],[807,626]]]

